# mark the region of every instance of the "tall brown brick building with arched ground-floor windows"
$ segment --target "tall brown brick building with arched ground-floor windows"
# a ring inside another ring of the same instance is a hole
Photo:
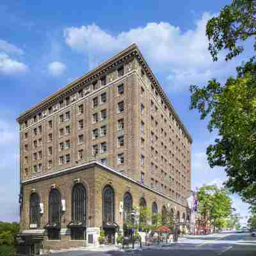
[[[115,243],[132,205],[189,219],[191,136],[136,45],[17,121],[28,250],[37,241],[52,249],[97,244],[100,228]]]

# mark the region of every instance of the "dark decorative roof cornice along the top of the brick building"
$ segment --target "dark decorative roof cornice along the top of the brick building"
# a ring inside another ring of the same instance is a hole
[[[191,135],[189,134],[185,125],[180,120],[179,115],[173,108],[172,103],[170,102],[170,100],[168,99],[166,94],[164,93],[163,88],[157,81],[157,78],[154,76],[152,70],[148,66],[147,61],[145,61],[145,59],[143,58],[143,55],[141,54],[141,52],[138,49],[136,44],[130,45],[129,47],[124,49],[124,51],[119,52],[118,54],[115,54],[109,60],[104,61],[98,67],[93,68],[92,71],[84,74],[84,76],[77,78],[72,83],[67,84],[67,86],[65,86],[61,90],[58,90],[58,92],[53,93],[49,97],[45,98],[40,103],[38,103],[35,106],[33,106],[32,108],[28,109],[28,111],[21,113],[19,118],[17,118],[17,122],[22,122],[26,118],[30,117],[33,113],[42,111],[42,109],[45,109],[45,108],[47,108],[47,106],[50,106],[52,103],[57,102],[58,100],[60,100],[63,97],[66,97],[69,93],[79,90],[79,88],[81,88],[81,86],[83,86],[84,84],[88,83],[89,81],[92,81],[93,79],[96,79],[97,77],[102,76],[102,74],[104,74],[111,68],[115,67],[116,65],[122,63],[124,60],[127,60],[131,56],[136,56],[136,58],[138,58],[142,67],[144,68],[145,72],[147,73],[148,77],[150,78],[150,81],[152,82],[152,84],[154,84],[154,86],[156,87],[159,94],[163,97],[166,106],[168,106],[172,115],[175,116],[175,119],[177,120],[178,124],[180,125],[180,127],[182,128],[182,130],[184,131],[186,136],[188,137],[188,140],[192,143],[193,140],[191,138]]]

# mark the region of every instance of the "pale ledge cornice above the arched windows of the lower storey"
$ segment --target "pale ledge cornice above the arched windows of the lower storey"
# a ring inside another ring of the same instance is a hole
[[[124,173],[120,173],[118,172],[117,170],[111,168],[110,166],[107,166],[106,164],[102,164],[100,163],[99,161],[97,160],[93,160],[93,161],[90,161],[90,162],[87,162],[87,163],[83,163],[83,164],[79,164],[77,166],[72,166],[70,168],[65,168],[65,169],[61,169],[61,170],[56,170],[55,172],[51,172],[51,173],[46,173],[44,175],[40,175],[38,177],[33,177],[31,179],[26,179],[26,180],[23,180],[22,182],[20,182],[21,185],[26,185],[26,184],[32,184],[34,182],[38,182],[38,181],[41,181],[41,180],[47,180],[47,179],[51,179],[53,177],[58,177],[58,176],[61,176],[61,175],[64,175],[64,174],[67,174],[67,173],[70,173],[70,172],[79,172],[80,170],[84,170],[84,168],[90,168],[90,167],[100,167],[108,172],[111,172],[119,177],[122,177],[123,179],[126,179],[126,180],[129,180],[130,182],[142,187],[142,188],[145,188],[149,191],[152,191],[153,193],[156,193],[157,195],[160,195],[162,196],[163,198],[166,198],[168,200],[170,200],[171,202],[175,203],[175,204],[179,204],[181,205],[182,207],[187,207],[187,205],[184,205],[184,204],[181,204],[180,202],[177,202],[176,200],[173,200],[172,198],[170,198],[169,196],[166,196],[164,195],[163,193],[155,190],[155,189],[152,189],[150,188],[149,186],[141,183],[141,182],[138,182],[138,180],[135,180],[135,179],[132,179],[131,177],[129,177],[128,175],[125,175]]]

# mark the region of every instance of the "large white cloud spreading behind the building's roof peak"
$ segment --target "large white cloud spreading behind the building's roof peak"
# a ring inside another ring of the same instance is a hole
[[[88,57],[89,66],[135,42],[150,66],[166,77],[166,91],[188,90],[189,84],[202,83],[213,76],[226,76],[234,62],[212,62],[205,36],[205,25],[212,17],[205,12],[195,29],[182,31],[168,22],[149,22],[145,27],[111,35],[96,24],[64,29],[65,42]]]

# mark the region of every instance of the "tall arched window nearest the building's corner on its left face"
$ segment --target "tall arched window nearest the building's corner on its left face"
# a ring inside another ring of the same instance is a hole
[[[72,240],[84,240],[86,237],[86,189],[76,184],[72,191],[72,222],[69,225]]]

